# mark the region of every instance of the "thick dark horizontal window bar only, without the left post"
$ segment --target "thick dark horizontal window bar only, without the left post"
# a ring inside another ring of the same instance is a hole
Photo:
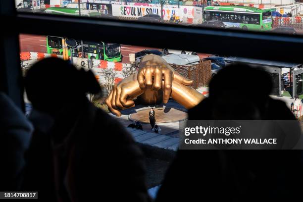
[[[301,35],[38,13],[18,13],[16,23],[20,25],[19,33],[25,34],[66,36],[78,39],[84,38],[83,36],[89,33],[90,40],[106,39],[110,43],[174,50],[182,47],[184,50],[210,54],[302,62],[301,54],[297,51],[303,46]],[[35,29],[36,24],[39,24],[39,30]],[[56,29],[50,29],[50,27]],[[85,29],[75,31],[74,27],[85,27]],[[88,32],[88,30],[94,31]],[[111,32],[104,30],[111,30]],[[238,46],[237,49],[233,49],[235,46]],[[267,52],[274,54],[264,54],[260,47],[266,47]],[[248,48],[250,51],[247,51]],[[276,51],[285,49],[289,51],[287,53]]]

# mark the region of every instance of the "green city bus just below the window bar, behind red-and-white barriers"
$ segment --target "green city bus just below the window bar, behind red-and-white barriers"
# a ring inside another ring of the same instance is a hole
[[[50,54],[63,54],[63,38],[47,36],[47,51]],[[74,57],[82,57],[81,40],[76,40],[79,45],[73,50]],[[120,44],[105,43],[105,42],[88,42],[83,41],[84,58],[102,59],[110,62],[120,62],[122,60]],[[68,50],[68,55],[71,55]]]

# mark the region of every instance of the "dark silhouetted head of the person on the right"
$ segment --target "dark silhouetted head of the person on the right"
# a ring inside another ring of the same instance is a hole
[[[233,64],[209,84],[214,119],[260,119],[272,89],[270,75],[258,67]]]

